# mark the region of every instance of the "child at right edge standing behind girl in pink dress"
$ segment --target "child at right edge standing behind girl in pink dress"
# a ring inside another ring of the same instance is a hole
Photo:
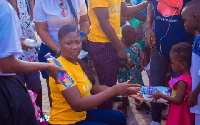
[[[193,0],[185,5],[181,16],[185,21],[185,29],[194,33],[200,32],[200,0]],[[192,76],[192,92],[190,93],[188,107],[190,112],[195,113],[195,125],[200,123],[200,34],[198,34],[193,43],[192,65],[190,68]],[[186,98],[187,99],[187,98]]]

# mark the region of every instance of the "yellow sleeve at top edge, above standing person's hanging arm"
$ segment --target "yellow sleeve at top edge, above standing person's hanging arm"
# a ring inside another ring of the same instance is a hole
[[[96,7],[108,7],[108,0],[90,0],[92,8]]]

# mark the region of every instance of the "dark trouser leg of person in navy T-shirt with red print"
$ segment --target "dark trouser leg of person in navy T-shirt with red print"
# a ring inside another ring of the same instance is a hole
[[[158,50],[152,50],[150,62],[150,85],[151,86],[164,86],[169,60],[161,57]],[[162,104],[151,103],[152,107],[152,120],[161,122]]]

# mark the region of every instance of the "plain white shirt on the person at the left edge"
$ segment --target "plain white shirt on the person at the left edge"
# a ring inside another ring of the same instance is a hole
[[[22,54],[20,40],[21,28],[17,13],[7,0],[0,0],[0,59],[11,55],[17,58]],[[0,75],[9,76],[14,73],[2,73],[0,70]]]

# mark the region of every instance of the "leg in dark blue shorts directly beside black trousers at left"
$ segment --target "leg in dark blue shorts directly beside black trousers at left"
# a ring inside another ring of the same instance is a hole
[[[25,75],[26,75],[27,88],[37,94],[37,99],[35,102],[37,106],[40,107],[41,115],[42,115],[43,114],[42,112],[42,85],[40,81],[40,72],[37,71],[37,72],[28,73]]]

